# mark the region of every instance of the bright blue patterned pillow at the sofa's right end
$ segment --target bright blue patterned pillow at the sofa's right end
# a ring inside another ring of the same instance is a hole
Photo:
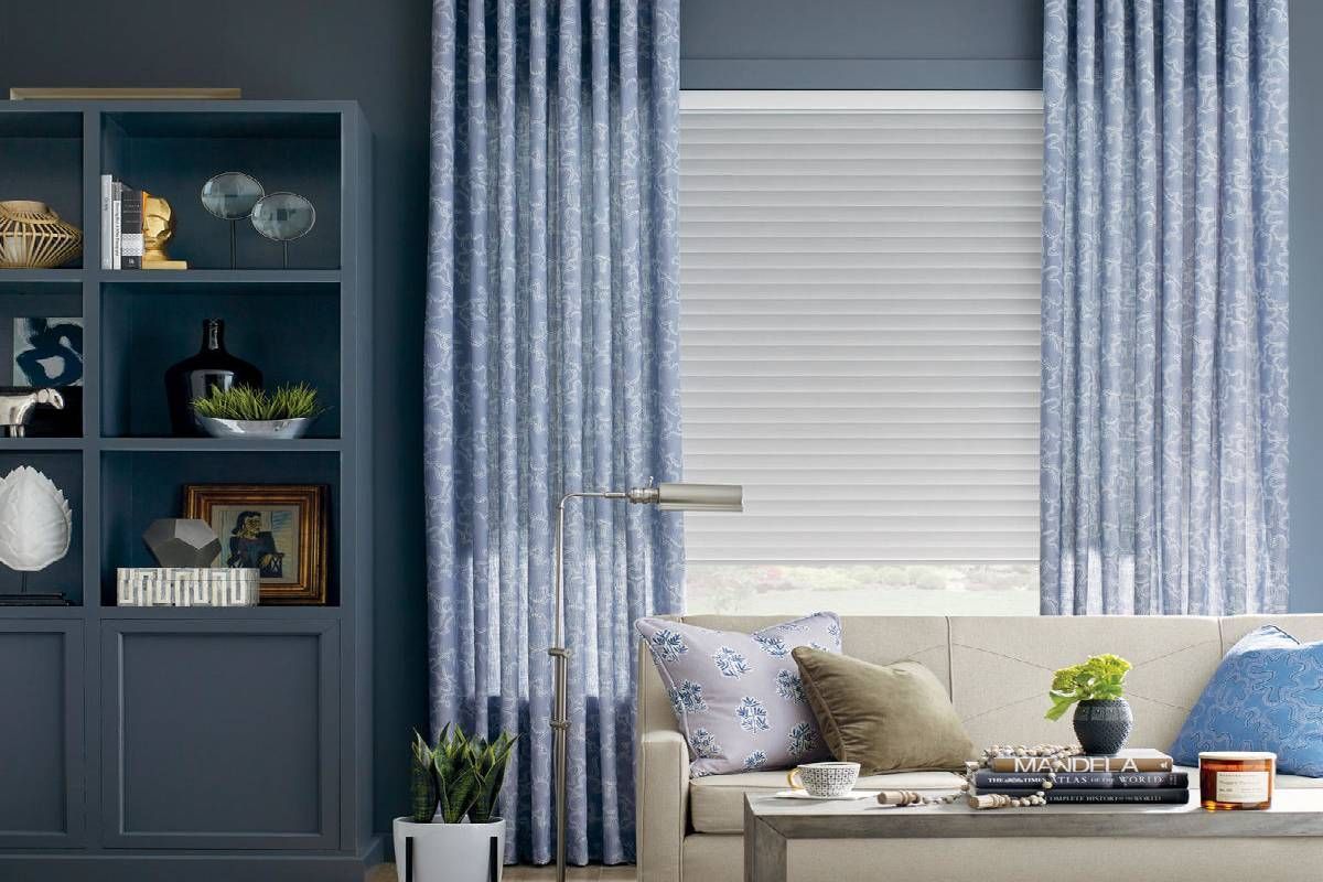
[[[1203,750],[1270,750],[1277,771],[1323,778],[1323,641],[1278,627],[1230,648],[1171,746],[1181,766]]]

